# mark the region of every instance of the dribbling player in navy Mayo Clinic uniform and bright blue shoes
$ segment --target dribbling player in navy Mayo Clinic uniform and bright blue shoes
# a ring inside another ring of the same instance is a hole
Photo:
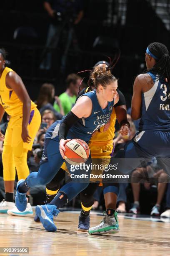
[[[20,211],[27,206],[25,194],[31,187],[49,183],[64,162],[64,145],[72,138],[89,141],[93,132],[100,129],[108,121],[113,105],[119,100],[117,79],[106,72],[106,67],[95,67],[91,73],[95,90],[87,92],[76,102],[71,112],[62,121],[56,121],[47,131],[42,155],[42,163],[38,172],[32,172],[27,179],[20,180],[17,186],[15,204]],[[102,124],[95,122],[103,119]],[[90,158],[89,158],[90,159]],[[90,161],[90,160],[89,160]],[[53,223],[58,208],[72,200],[88,185],[87,183],[70,182],[65,184],[49,205],[36,207],[36,214],[48,231],[56,231]]]

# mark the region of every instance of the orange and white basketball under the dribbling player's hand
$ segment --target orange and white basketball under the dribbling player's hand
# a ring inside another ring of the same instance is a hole
[[[65,161],[69,164],[83,164],[87,161],[90,150],[85,141],[73,139],[65,144]]]

